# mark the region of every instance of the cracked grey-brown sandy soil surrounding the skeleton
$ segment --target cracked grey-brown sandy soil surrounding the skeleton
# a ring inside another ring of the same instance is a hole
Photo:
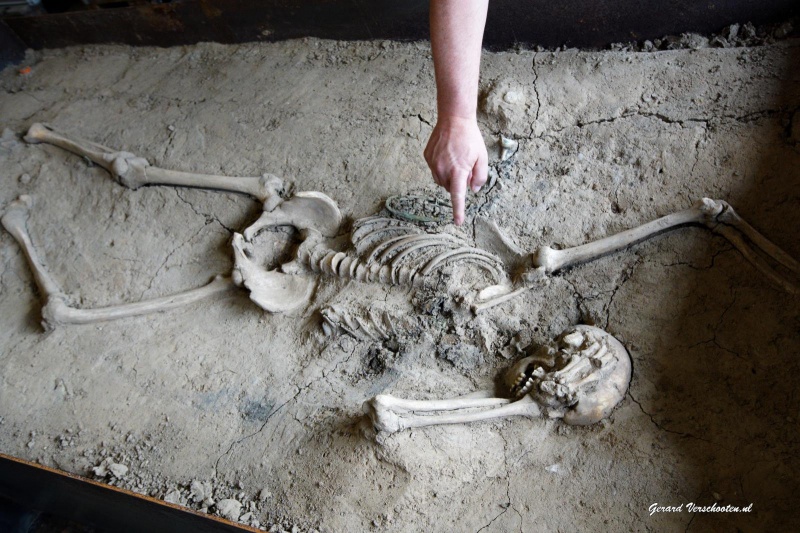
[[[229,272],[260,212],[231,193],[128,190],[26,145],[33,122],[172,169],[270,172],[349,219],[434,192],[425,44],[302,40],[46,51],[0,75],[0,207],[29,228],[82,307]],[[721,198],[800,257],[800,43],[485,53],[480,122],[498,182],[472,199],[523,249],[573,246]],[[519,151],[498,162],[498,135]],[[452,228],[450,229],[452,230]],[[412,291],[323,280],[262,312],[233,292],[163,314],[45,333],[16,242],[0,232],[0,451],[195,509],[243,504],[278,531],[763,531],[800,520],[797,296],[731,244],[685,228],[573,268],[477,319]],[[420,327],[390,343],[326,337],[319,309],[383,306]],[[612,416],[507,419],[375,436],[362,402],[490,386],[575,323],[634,362]],[[105,461],[104,461],[105,460]],[[110,467],[111,463],[127,467]],[[112,472],[114,470],[114,472]],[[197,500],[197,501],[195,501]],[[692,513],[689,503],[747,506]],[[650,514],[652,504],[679,512]],[[248,514],[250,513],[250,514]]]

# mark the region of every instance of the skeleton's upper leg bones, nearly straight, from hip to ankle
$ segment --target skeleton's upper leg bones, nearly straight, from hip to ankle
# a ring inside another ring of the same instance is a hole
[[[130,152],[113,150],[77,137],[67,137],[40,123],[30,127],[25,140],[32,144],[52,144],[85,157],[106,169],[117,182],[129,189],[138,189],[144,185],[174,185],[238,192],[257,198],[264,203],[267,211],[274,209],[281,201],[279,191],[283,189],[283,181],[271,174],[240,178],[167,170],[151,166],[146,159]]]

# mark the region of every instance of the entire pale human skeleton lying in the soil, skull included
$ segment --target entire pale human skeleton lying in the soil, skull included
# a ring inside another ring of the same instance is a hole
[[[719,200],[704,198],[684,211],[564,250],[544,246],[532,254],[525,253],[496,224],[480,218],[475,247],[454,235],[427,233],[406,220],[381,216],[356,221],[350,232],[350,246],[339,249],[335,243],[341,240],[342,215],[336,203],[313,191],[298,192],[287,199],[286,187],[276,176],[226,177],[161,169],[129,152],[70,138],[42,124],[31,126],[25,139],[74,152],[131,189],[145,185],[200,187],[247,194],[263,203],[259,219],[241,234],[233,235],[234,267],[230,276],[216,276],[205,286],[172,296],[79,309],[70,305],[68,296],[47,272],[46,262],[37,254],[27,229],[32,199],[20,197],[6,208],[1,221],[19,243],[33,271],[45,300],[42,316],[46,329],[172,309],[234,286],[246,288],[250,298],[268,312],[289,312],[308,303],[319,276],[420,287],[438,282],[450,266],[480,273],[471,293],[464,296],[463,291],[459,292],[459,301],[480,313],[517,297],[563,269],[687,224],[705,225],[724,236],[770,280],[788,292],[798,292],[798,285],[769,263],[777,263],[796,276],[800,274],[797,261]],[[403,203],[396,200],[397,205]],[[437,209],[434,205],[433,215]],[[297,230],[301,243],[291,261],[267,270],[254,260],[254,239],[259,232],[280,226]],[[396,335],[395,327],[401,324],[388,315],[370,313],[362,319],[335,308],[324,310],[323,318],[326,332],[342,329],[364,340],[385,340]],[[576,326],[562,335],[557,346],[546,347],[511,369],[505,380],[506,397],[496,397],[490,391],[438,401],[379,395],[365,405],[374,426],[388,432],[511,415],[563,418],[568,424],[584,425],[608,416],[624,396],[630,374],[630,357],[619,341],[597,328]]]

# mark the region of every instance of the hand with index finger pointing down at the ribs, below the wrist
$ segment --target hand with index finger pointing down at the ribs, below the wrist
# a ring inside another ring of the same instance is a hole
[[[464,222],[467,187],[478,192],[489,172],[489,156],[478,122],[474,118],[440,116],[424,155],[433,181],[450,193],[453,221],[460,226]]]

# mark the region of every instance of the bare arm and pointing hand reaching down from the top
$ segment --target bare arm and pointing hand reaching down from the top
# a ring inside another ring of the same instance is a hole
[[[464,221],[467,186],[486,183],[486,146],[478,129],[478,76],[489,0],[431,0],[431,47],[438,119],[425,148],[433,180],[450,192]]]

